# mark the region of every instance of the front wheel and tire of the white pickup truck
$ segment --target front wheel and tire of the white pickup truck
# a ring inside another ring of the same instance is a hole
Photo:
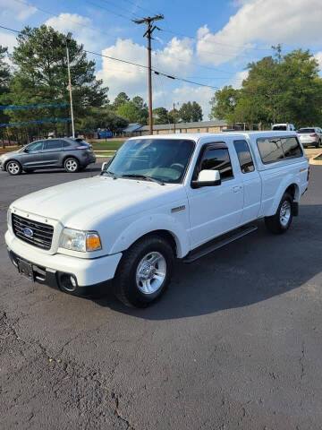
[[[173,267],[172,246],[160,236],[144,237],[123,254],[114,278],[115,296],[123,305],[147,307],[164,294]]]

